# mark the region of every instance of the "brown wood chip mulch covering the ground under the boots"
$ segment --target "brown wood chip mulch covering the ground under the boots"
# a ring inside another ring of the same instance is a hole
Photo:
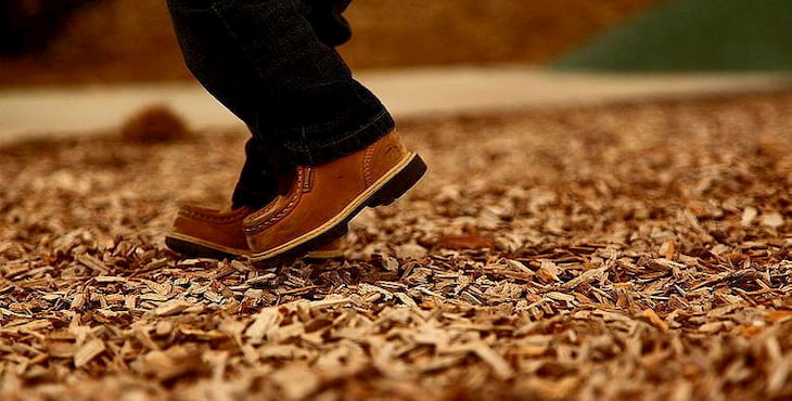
[[[243,132],[0,150],[0,398],[792,397],[792,93],[407,121],[348,257],[184,259]]]

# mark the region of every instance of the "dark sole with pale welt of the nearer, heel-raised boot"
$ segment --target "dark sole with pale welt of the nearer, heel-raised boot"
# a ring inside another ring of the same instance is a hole
[[[251,262],[267,268],[299,259],[306,253],[322,247],[346,234],[347,224],[367,207],[387,206],[409,191],[426,172],[426,164],[416,153],[385,173],[366,192],[358,195],[332,220],[273,249],[253,254]]]

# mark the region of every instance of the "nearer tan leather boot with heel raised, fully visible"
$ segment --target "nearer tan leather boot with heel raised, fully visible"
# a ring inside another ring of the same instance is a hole
[[[341,237],[363,208],[389,205],[425,171],[396,132],[337,160],[297,166],[289,193],[244,221],[253,264],[288,262]]]

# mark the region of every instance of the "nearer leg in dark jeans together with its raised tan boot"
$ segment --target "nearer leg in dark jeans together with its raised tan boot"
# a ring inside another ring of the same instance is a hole
[[[353,79],[335,50],[319,40],[298,11],[302,3],[170,1],[209,16],[215,13],[225,29],[219,30],[232,38],[229,48],[246,59],[239,62],[255,70],[241,78],[250,79],[245,83],[255,91],[248,89],[244,98],[227,105],[233,109],[243,99],[241,112],[234,113],[257,138],[273,144],[268,152],[294,165],[288,191],[243,221],[254,263],[292,260],[332,242],[365,207],[393,202],[423,174],[425,165],[393,132],[391,115]],[[196,36],[216,40],[216,24],[203,28]],[[188,64],[222,102],[221,91],[212,88],[228,85],[228,70],[199,67],[207,63],[205,53],[195,52],[200,43],[184,44]],[[250,114],[244,113],[247,109]]]

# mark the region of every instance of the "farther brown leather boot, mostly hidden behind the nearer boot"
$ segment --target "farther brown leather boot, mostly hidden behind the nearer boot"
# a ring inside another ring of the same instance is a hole
[[[242,221],[256,211],[250,206],[232,210],[209,209],[196,205],[182,205],[171,231],[165,236],[165,245],[171,250],[190,257],[231,259],[251,254],[242,230]],[[332,242],[306,257],[333,259],[344,256],[341,241]]]

